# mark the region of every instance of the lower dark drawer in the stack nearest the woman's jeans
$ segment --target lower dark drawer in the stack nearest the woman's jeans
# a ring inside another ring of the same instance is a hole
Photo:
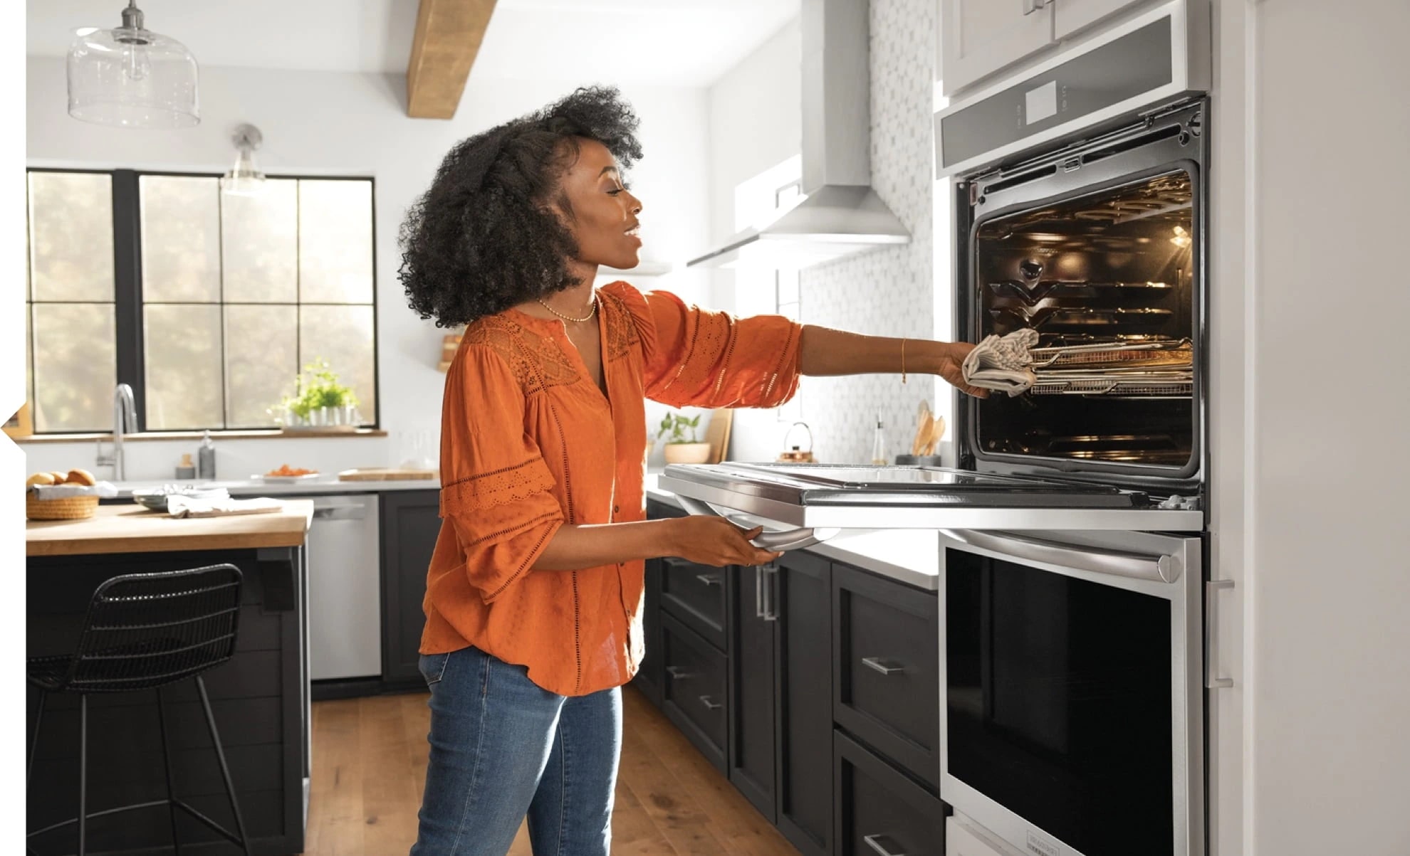
[[[661,710],[725,773],[725,655],[670,614],[661,615],[661,662],[666,687]]]

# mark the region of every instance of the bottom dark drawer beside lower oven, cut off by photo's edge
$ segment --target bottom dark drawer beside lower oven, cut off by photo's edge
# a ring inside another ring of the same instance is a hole
[[[945,804],[856,741],[833,735],[839,856],[945,856]]]

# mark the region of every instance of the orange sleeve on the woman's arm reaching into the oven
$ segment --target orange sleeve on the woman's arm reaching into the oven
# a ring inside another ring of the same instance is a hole
[[[781,315],[736,318],[670,291],[608,286],[642,336],[646,397],[673,407],[778,407],[798,390],[802,327]]]

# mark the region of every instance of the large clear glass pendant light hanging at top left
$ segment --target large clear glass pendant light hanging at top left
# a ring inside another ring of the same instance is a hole
[[[121,128],[190,128],[200,124],[196,76],[186,45],[145,30],[130,0],[121,27],[75,31],[69,115]]]

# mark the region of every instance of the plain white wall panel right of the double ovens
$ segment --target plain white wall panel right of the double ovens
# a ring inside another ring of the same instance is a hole
[[[1410,4],[1246,14],[1246,852],[1404,856]]]

